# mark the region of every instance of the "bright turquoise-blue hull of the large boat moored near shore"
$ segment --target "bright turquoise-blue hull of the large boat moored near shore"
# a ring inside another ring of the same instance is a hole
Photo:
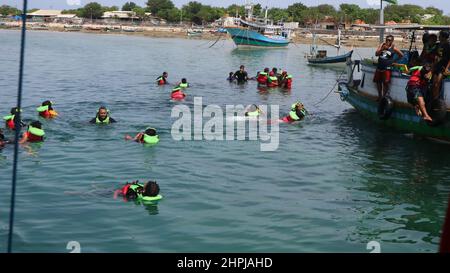
[[[256,47],[286,47],[289,40],[277,36],[272,39],[253,30],[243,28],[226,28],[237,46],[256,46]]]

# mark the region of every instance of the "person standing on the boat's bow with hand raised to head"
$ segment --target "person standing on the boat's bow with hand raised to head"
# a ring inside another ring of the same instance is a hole
[[[390,66],[394,63],[394,53],[400,58],[403,57],[403,53],[394,45],[394,36],[388,35],[386,42],[382,43],[375,52],[375,56],[378,56],[378,64],[373,81],[377,84],[378,100],[389,90],[392,73]]]

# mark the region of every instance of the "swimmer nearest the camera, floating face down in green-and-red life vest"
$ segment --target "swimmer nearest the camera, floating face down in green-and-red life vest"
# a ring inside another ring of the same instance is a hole
[[[114,192],[114,199],[122,196],[125,201],[157,201],[162,199],[159,194],[160,188],[156,181],[148,181],[145,184],[139,183],[139,180],[126,183],[123,187]]]

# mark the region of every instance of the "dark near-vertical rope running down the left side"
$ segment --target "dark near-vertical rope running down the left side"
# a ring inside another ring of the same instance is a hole
[[[17,91],[17,107],[19,111],[17,113],[17,119],[15,122],[15,139],[14,139],[14,165],[12,175],[12,189],[11,189],[11,206],[9,212],[9,234],[8,234],[8,253],[12,251],[12,236],[14,228],[14,206],[16,202],[16,180],[17,180],[17,164],[19,154],[19,135],[20,135],[20,110],[22,109],[22,82],[23,82],[23,62],[25,57],[25,33],[27,30],[27,4],[28,0],[23,1],[22,11],[22,40],[20,44],[20,66],[19,66],[19,87]]]

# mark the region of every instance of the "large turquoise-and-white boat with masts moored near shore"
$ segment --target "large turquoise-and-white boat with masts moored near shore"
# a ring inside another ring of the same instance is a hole
[[[290,43],[291,28],[274,25],[265,18],[253,18],[253,4],[245,6],[246,20],[235,18],[236,26],[224,27],[238,47],[286,47]]]

